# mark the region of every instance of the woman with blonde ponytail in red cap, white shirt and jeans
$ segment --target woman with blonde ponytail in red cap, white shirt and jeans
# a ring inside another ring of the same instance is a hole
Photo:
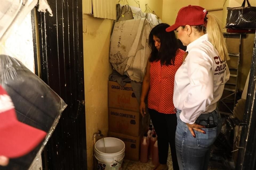
[[[175,74],[173,94],[179,169],[207,170],[221,130],[217,101],[230,75],[227,47],[217,18],[199,6],[181,8],[175,24],[166,29],[173,30],[188,52]]]

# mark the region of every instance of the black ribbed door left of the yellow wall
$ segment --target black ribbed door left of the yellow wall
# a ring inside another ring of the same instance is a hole
[[[82,0],[48,1],[37,13],[41,78],[68,104],[42,154],[43,169],[87,169]]]

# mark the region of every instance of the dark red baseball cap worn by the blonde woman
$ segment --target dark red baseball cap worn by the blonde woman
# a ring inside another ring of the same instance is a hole
[[[185,25],[203,25],[205,23],[205,16],[207,14],[207,10],[200,6],[185,6],[182,7],[175,20],[175,24],[166,28],[167,32],[173,31],[177,29],[179,26]]]

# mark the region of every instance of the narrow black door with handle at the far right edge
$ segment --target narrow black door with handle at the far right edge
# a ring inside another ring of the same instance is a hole
[[[256,169],[256,33],[236,170]]]

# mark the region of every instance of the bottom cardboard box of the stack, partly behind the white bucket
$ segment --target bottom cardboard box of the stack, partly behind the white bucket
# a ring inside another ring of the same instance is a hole
[[[141,136],[130,136],[122,133],[115,133],[109,131],[109,137],[121,139],[125,143],[125,159],[139,160],[140,139]]]

